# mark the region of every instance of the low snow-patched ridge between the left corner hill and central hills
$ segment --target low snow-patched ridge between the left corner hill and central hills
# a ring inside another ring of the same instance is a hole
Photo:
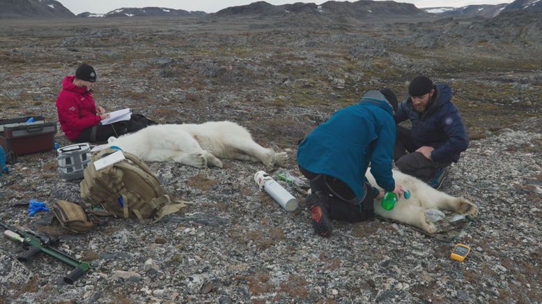
[[[118,8],[111,10],[105,14],[94,13],[80,13],[77,17],[146,17],[146,16],[203,16],[207,13],[202,11],[176,10],[174,8],[158,8],[158,7],[145,7],[145,8]]]

